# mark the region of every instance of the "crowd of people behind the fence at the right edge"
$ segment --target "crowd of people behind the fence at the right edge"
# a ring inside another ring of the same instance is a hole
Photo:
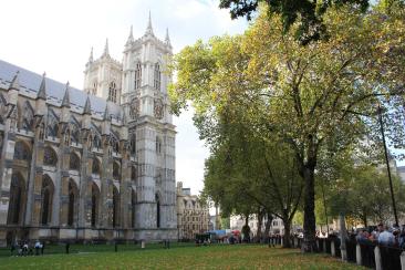
[[[405,249],[405,225],[393,227],[380,224],[374,230],[363,229],[356,236],[359,243],[377,242],[388,247]]]

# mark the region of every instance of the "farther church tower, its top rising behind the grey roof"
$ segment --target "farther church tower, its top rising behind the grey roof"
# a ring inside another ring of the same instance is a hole
[[[122,64],[108,52],[105,41],[103,54],[94,61],[93,48],[84,70],[84,87],[87,94],[100,96],[120,105],[122,90]]]

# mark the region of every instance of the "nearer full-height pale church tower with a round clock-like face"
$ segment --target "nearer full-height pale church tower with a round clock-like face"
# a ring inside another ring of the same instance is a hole
[[[157,39],[147,23],[144,35],[134,40],[132,28],[123,56],[122,105],[137,157],[136,238],[176,233],[175,126],[169,113],[167,64],[172,44],[168,32]]]

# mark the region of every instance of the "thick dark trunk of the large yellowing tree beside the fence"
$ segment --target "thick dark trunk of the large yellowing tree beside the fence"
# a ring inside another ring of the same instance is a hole
[[[315,235],[316,235],[316,220],[315,220],[315,179],[314,179],[314,166],[303,168],[304,178],[304,225],[303,225],[303,252],[318,251]]]

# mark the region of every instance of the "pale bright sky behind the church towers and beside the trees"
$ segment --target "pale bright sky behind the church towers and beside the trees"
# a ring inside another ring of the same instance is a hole
[[[108,38],[111,55],[121,60],[131,25],[134,38],[141,37],[149,11],[155,35],[164,39],[168,28],[175,53],[198,39],[240,33],[248,25],[243,19],[230,20],[217,0],[2,1],[0,59],[81,89],[91,48],[100,56]],[[198,193],[208,150],[191,116],[185,112],[175,118],[176,176]]]

